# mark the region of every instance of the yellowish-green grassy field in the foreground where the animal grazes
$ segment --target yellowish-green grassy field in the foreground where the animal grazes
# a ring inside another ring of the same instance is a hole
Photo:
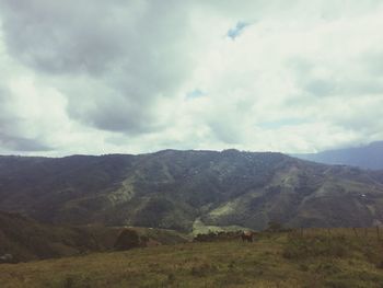
[[[369,242],[367,242],[369,241]],[[383,287],[382,244],[263,234],[1,265],[1,287]]]

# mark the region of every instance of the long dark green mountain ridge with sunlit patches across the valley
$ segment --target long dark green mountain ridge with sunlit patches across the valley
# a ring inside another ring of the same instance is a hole
[[[383,222],[383,172],[281,153],[0,157],[0,210],[53,223],[264,229]]]

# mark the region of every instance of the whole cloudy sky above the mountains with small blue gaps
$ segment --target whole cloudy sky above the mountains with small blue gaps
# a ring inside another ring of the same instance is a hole
[[[0,0],[0,154],[383,139],[381,0]]]

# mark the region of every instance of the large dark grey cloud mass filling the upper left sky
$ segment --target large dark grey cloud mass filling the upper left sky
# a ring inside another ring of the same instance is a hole
[[[158,100],[174,96],[189,73],[185,3],[7,0],[2,9],[13,58],[50,77],[68,115],[85,125],[155,129]]]

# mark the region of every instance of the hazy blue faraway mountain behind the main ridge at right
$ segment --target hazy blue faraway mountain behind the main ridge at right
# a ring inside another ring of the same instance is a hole
[[[371,170],[383,170],[383,141],[318,153],[293,154],[293,157],[325,164],[344,164]]]

